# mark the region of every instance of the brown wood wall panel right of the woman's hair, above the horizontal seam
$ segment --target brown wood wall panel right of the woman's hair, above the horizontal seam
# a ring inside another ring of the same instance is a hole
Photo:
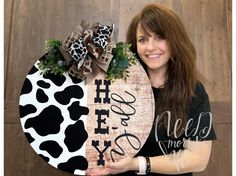
[[[211,101],[231,101],[226,1],[182,1],[180,17],[197,50]],[[220,81],[219,81],[220,80]]]

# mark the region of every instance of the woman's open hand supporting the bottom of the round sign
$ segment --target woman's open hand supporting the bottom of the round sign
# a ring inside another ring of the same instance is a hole
[[[88,172],[91,176],[104,176],[118,174],[130,170],[138,170],[138,160],[133,157],[126,157],[118,162],[108,162],[103,168],[96,168]]]

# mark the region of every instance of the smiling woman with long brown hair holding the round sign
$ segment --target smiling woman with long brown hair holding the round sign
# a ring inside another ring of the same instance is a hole
[[[91,175],[192,175],[203,171],[216,139],[208,95],[196,71],[195,48],[179,17],[147,5],[135,16],[127,42],[151,81],[155,123],[136,157],[107,164]]]

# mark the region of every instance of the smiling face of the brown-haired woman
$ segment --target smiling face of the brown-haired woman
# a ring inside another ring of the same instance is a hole
[[[171,53],[166,39],[153,32],[145,34],[140,27],[137,29],[137,51],[139,57],[151,70],[165,70]]]

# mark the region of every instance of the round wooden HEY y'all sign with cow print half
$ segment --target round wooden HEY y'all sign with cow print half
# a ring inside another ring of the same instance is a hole
[[[85,81],[67,73],[44,76],[37,62],[22,87],[20,121],[45,161],[85,175],[142,148],[153,124],[154,98],[140,64],[129,68],[126,81],[111,83],[102,72]]]

